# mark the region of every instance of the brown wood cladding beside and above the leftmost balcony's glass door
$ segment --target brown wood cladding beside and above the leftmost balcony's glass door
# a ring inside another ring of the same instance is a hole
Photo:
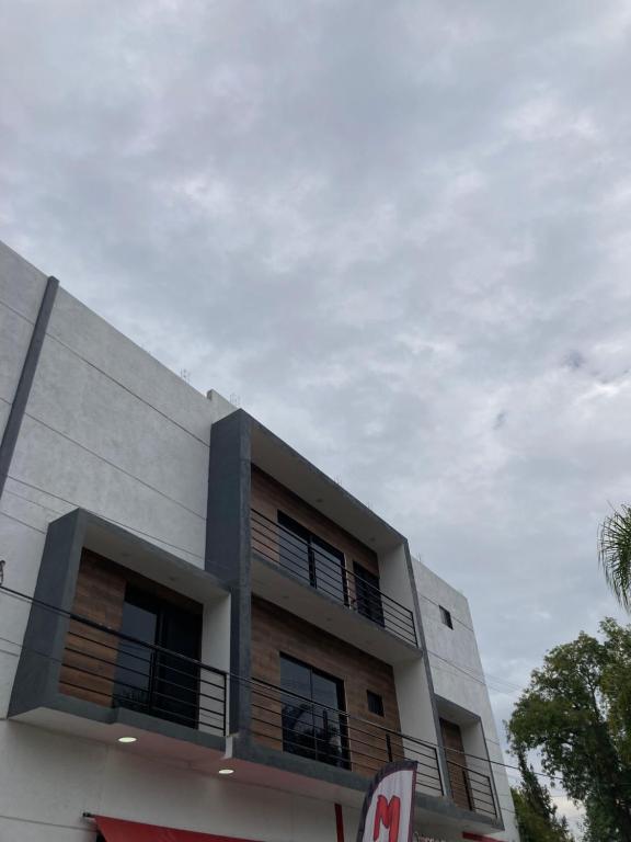
[[[191,613],[202,612],[202,606],[193,600],[90,549],[83,549],[72,613],[119,632],[128,584],[175,603]],[[60,692],[110,707],[117,658],[118,637],[115,634],[71,619],[59,676]]]

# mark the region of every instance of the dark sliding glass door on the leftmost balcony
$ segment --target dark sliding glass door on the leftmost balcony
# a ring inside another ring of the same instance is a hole
[[[202,615],[128,584],[121,632],[114,705],[196,728]]]

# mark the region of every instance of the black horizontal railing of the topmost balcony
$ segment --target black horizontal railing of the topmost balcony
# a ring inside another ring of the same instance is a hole
[[[319,549],[254,509],[251,523],[255,553],[405,642],[417,645],[410,608],[348,570],[342,559]]]

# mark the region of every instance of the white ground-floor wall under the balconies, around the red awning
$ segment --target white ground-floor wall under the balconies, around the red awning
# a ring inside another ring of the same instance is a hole
[[[264,842],[334,842],[332,803],[5,722],[0,842],[93,842],[84,811]],[[347,840],[356,810],[345,808]]]

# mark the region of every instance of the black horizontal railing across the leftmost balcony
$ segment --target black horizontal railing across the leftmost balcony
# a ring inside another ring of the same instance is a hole
[[[226,733],[225,672],[87,617],[70,619],[59,684],[99,705]]]

